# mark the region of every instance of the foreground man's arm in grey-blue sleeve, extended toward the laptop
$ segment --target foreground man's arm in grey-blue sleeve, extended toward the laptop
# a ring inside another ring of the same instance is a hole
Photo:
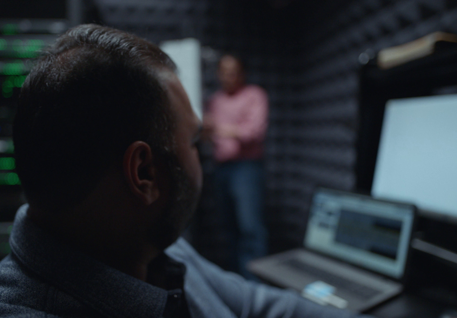
[[[356,314],[320,306],[298,293],[266,286],[222,270],[199,255],[184,239],[167,250],[188,268],[189,294],[210,290],[236,317],[251,318],[354,318]],[[195,277],[198,276],[198,277]],[[192,286],[190,286],[192,285]],[[199,297],[200,295],[196,295]],[[189,298],[193,297],[189,295]],[[211,304],[208,304],[211,306]]]

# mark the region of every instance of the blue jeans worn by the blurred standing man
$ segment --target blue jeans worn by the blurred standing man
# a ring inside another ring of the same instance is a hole
[[[250,279],[255,276],[246,264],[266,254],[264,179],[260,160],[222,163],[214,172],[216,207],[225,221],[234,270]]]

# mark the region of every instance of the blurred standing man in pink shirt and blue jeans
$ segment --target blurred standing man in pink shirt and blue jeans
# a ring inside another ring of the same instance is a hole
[[[217,206],[236,222],[228,229],[234,243],[231,260],[237,262],[233,269],[252,278],[246,263],[266,254],[262,156],[268,96],[259,86],[246,85],[244,75],[238,58],[221,58],[222,90],[211,97],[204,124],[212,132],[214,158],[219,163],[214,175]]]

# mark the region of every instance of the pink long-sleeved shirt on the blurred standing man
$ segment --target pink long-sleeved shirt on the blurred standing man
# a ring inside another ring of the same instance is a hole
[[[268,96],[257,85],[246,85],[233,95],[216,92],[208,113],[214,124],[214,157],[219,162],[260,159],[268,126]],[[235,131],[237,137],[224,136]]]

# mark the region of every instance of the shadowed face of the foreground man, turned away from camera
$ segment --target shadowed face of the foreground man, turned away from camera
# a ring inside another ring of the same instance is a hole
[[[170,71],[163,73],[160,77],[169,97],[175,131],[173,147],[163,158],[170,177],[170,199],[151,230],[152,241],[162,250],[175,242],[189,224],[202,186],[198,153],[191,145],[198,129],[195,114],[176,75]]]

